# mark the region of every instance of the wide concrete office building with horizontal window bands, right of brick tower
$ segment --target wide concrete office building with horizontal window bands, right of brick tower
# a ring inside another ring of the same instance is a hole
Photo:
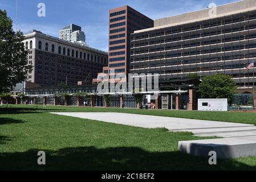
[[[157,19],[131,35],[131,72],[159,73],[161,81],[225,73],[240,93],[253,92],[256,69],[246,67],[255,59],[255,0]]]

